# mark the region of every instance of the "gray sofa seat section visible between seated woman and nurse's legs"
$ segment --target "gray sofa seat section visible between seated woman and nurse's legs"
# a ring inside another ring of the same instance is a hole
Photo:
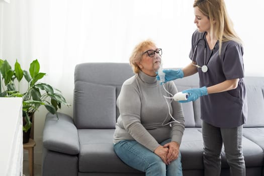
[[[204,169],[203,147],[201,129],[185,128],[180,146],[183,169]]]

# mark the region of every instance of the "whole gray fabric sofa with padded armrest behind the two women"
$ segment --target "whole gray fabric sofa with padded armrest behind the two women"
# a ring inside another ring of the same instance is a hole
[[[112,144],[121,85],[133,75],[128,63],[82,63],[75,67],[73,118],[47,114],[43,176],[145,175],[123,163]],[[247,176],[264,176],[264,77],[245,77],[248,121],[243,128]],[[198,87],[198,75],[175,80],[179,91]],[[183,104],[186,129],[180,147],[183,173],[203,175],[200,102]],[[224,149],[221,175],[229,175]]]

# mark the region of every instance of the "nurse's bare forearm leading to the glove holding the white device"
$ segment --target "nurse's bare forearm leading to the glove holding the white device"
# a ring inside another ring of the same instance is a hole
[[[214,94],[214,93],[220,93],[220,92],[225,92],[225,91],[229,91],[232,89],[236,89],[238,85],[238,80],[239,78],[230,79],[230,80],[225,80],[218,84],[212,85],[210,87],[207,87],[207,92],[208,94]]]

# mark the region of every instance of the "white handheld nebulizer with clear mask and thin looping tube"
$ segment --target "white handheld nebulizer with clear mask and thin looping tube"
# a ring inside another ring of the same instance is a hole
[[[169,125],[169,124],[174,123],[174,122],[181,123],[181,122],[175,120],[175,119],[172,117],[172,115],[171,115],[171,113],[170,113],[170,110],[169,110],[169,104],[168,104],[167,99],[171,99],[171,101],[172,101],[172,100],[174,100],[174,101],[185,101],[185,100],[188,100],[188,93],[182,93],[182,92],[179,92],[179,93],[177,93],[177,94],[175,94],[175,95],[172,95],[171,93],[169,93],[169,92],[165,89],[165,87],[164,87],[164,83],[163,83],[163,82],[165,82],[165,73],[163,72],[162,63],[160,63],[160,65],[159,65],[159,69],[158,69],[158,72],[157,72],[157,73],[158,73],[158,76],[159,76],[159,80],[160,80],[160,82],[161,82],[161,85],[163,86],[163,89],[165,90],[166,93],[168,93],[168,94],[171,96],[171,97],[166,97],[166,96],[163,95],[163,97],[165,98],[166,104],[167,104],[167,106],[168,106],[168,114],[169,114],[170,118],[173,120],[173,121],[171,121],[171,122],[169,122],[169,123],[164,124],[164,122],[166,121],[166,119],[167,119],[167,117],[168,117],[168,116],[166,116],[165,120],[162,122],[161,125],[165,126],[165,125]],[[171,103],[171,101],[170,101],[169,103]]]

